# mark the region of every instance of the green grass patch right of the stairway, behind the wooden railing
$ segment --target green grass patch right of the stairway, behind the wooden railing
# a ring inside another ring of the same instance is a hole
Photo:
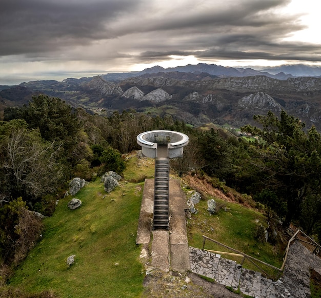
[[[214,198],[217,203],[224,204],[229,208],[228,212],[220,209],[217,214],[210,215],[207,211],[207,201],[201,200],[195,207],[198,210],[196,215],[192,215],[192,220],[187,220],[189,245],[203,248],[203,236],[223,243],[231,248],[242,251],[263,262],[277,268],[282,266],[282,254],[276,252],[272,245],[260,243],[255,240],[255,231],[259,223],[265,224],[263,214],[254,209],[246,208],[236,203],[228,203]],[[205,249],[233,252],[223,246],[206,240]],[[223,255],[227,259],[242,262],[243,257],[233,257]],[[249,262],[244,263],[244,267],[258,271]],[[275,274],[272,269],[264,270],[269,274]]]

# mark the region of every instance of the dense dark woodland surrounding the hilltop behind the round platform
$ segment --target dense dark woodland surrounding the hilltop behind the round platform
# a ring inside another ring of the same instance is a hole
[[[257,126],[242,128],[255,136],[250,140],[134,110],[91,115],[46,95],[7,108],[0,122],[1,263],[16,266],[36,242],[42,223],[30,211],[51,216],[73,177],[122,174],[124,154],[141,149],[136,136],[155,129],[189,136],[184,158],[171,161],[180,176],[197,174],[251,195],[268,221],[278,218],[285,228],[294,223],[321,240],[319,132],[286,112],[254,120]]]

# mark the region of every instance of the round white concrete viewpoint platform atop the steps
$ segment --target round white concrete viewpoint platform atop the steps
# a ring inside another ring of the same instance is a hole
[[[142,146],[142,152],[147,157],[156,158],[160,147],[167,148],[168,158],[183,157],[188,136],[178,131],[151,130],[138,134],[137,144]]]

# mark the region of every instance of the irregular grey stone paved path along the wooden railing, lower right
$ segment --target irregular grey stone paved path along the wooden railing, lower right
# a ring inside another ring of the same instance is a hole
[[[276,282],[206,250],[190,247],[191,271],[257,298],[310,297],[309,267],[321,270],[321,259],[298,241],[289,249],[283,275]]]

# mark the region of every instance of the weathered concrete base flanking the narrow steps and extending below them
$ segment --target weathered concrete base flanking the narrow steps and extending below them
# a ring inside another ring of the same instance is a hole
[[[169,183],[170,229],[152,231],[154,206],[154,179],[146,179],[144,184],[141,212],[139,213],[136,243],[152,241],[152,266],[163,271],[170,268],[184,272],[190,270],[189,248],[186,231],[186,198],[179,180]],[[150,235],[153,235],[152,240]]]

